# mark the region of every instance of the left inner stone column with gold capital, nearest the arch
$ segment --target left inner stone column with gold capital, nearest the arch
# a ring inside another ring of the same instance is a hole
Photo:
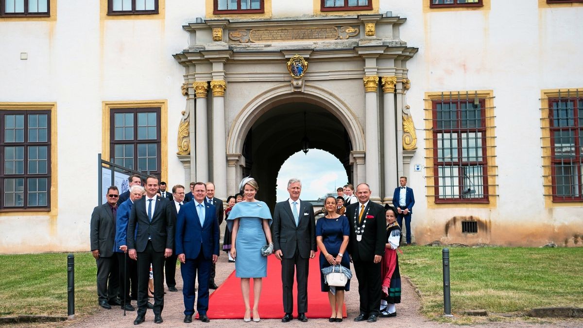
[[[215,197],[227,198],[227,144],[224,127],[224,92],[227,82],[224,80],[210,81],[213,92],[213,183]]]

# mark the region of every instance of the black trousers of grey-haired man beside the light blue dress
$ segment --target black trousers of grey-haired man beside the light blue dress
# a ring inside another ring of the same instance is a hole
[[[297,280],[297,312],[308,312],[308,264],[310,257],[303,259],[300,251],[291,259],[282,259],[282,287],[283,287],[283,311],[293,313],[293,275]]]

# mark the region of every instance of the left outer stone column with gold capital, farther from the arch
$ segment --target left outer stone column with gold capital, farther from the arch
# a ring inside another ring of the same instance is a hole
[[[191,168],[194,168],[191,170],[194,173],[191,173],[191,182],[206,182],[209,179],[209,149],[207,146],[209,144],[207,125],[208,109],[206,107],[206,92],[209,84],[206,82],[194,82],[192,86],[196,95],[196,128],[191,130],[191,135],[193,136],[192,139],[196,139],[196,141],[192,143],[190,152]]]

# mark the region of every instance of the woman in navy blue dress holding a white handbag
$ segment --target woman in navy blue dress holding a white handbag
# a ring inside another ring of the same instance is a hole
[[[324,201],[325,217],[316,222],[316,243],[320,250],[320,269],[334,264],[340,264],[350,270],[350,257],[346,253],[350,227],[348,218],[336,213],[336,198],[329,196]],[[342,322],[342,306],[344,292],[350,289],[350,280],[345,287],[330,287],[324,282],[324,274],[320,271],[320,281],[323,292],[328,292],[328,301],[332,308],[329,322]]]

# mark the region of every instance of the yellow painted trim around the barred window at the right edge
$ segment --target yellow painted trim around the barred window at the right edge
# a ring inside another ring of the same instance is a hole
[[[540,130],[541,149],[543,162],[543,193],[545,194],[545,207],[580,207],[581,201],[553,202],[553,175],[551,169],[551,144],[550,144],[550,121],[549,121],[549,98],[566,96],[567,92],[575,92],[577,88],[566,89],[544,89],[540,90]],[[581,88],[579,88],[581,90]]]

